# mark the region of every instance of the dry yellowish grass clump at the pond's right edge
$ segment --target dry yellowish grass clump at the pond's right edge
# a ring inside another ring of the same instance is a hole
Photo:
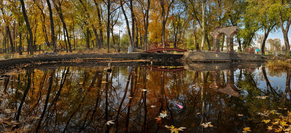
[[[290,69],[291,63],[283,60],[268,60],[267,66],[269,69]]]

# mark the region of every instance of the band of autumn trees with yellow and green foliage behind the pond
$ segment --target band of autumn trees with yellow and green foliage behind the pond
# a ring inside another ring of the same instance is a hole
[[[275,31],[283,32],[288,51],[290,5],[285,0],[2,0],[0,51],[113,52],[128,46],[134,51],[160,41],[186,42],[189,49],[205,42],[202,48],[213,50],[210,32],[228,26],[239,27],[234,38],[240,51],[261,40],[264,54],[267,37]]]

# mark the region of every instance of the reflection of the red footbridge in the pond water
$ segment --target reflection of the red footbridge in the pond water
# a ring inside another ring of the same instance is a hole
[[[186,69],[184,67],[178,67],[178,68],[161,68],[161,67],[149,67],[145,66],[147,68],[147,75],[149,76],[155,76],[158,78],[181,78],[186,77]]]

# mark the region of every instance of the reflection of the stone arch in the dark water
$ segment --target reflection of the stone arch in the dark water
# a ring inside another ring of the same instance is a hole
[[[224,94],[229,94],[231,96],[239,97],[241,96],[240,90],[235,87],[235,80],[233,76],[233,70],[227,71],[226,87],[223,87],[220,83],[220,75],[218,73],[213,73],[212,82],[209,88],[219,91]]]

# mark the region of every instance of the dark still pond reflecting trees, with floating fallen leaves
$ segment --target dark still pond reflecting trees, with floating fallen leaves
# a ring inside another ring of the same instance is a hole
[[[0,79],[1,130],[267,132],[272,121],[262,120],[290,109],[290,72],[264,64],[213,71],[127,66],[107,73],[104,68],[10,72]],[[267,110],[277,114],[266,115]]]

